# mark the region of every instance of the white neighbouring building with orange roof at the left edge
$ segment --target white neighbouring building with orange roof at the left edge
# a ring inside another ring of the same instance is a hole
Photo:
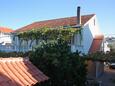
[[[0,27],[0,51],[11,52],[13,50],[12,31],[10,28]]]

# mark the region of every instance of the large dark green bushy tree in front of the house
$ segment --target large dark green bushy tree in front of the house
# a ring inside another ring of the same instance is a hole
[[[50,79],[40,86],[85,86],[86,65],[79,52],[71,53],[66,42],[42,44],[30,60]]]

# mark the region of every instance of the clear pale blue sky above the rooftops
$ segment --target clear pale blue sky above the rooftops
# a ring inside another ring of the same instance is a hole
[[[36,21],[96,14],[103,34],[115,34],[115,0],[0,0],[0,26],[18,29]]]

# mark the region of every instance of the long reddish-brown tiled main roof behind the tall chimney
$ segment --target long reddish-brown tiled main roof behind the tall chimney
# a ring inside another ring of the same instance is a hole
[[[91,15],[84,15],[81,16],[81,24],[84,25],[90,18],[92,18],[95,14]],[[31,29],[38,29],[42,27],[58,27],[58,26],[74,26],[77,25],[77,17],[67,17],[67,18],[60,18],[60,19],[53,19],[53,20],[46,20],[46,21],[39,21],[22,27],[20,29],[15,30],[14,32],[23,32]]]

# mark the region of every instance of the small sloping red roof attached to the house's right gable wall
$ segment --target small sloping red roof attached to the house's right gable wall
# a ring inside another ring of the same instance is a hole
[[[100,51],[100,47],[102,45],[103,39],[104,39],[103,35],[95,36],[95,38],[93,39],[92,45],[89,49],[89,53],[95,53],[97,51]]]

